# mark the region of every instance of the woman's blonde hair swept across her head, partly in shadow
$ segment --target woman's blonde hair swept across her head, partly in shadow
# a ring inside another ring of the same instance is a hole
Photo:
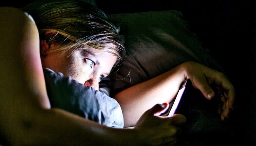
[[[95,6],[82,1],[54,1],[45,3],[34,12],[29,12],[39,30],[40,40],[49,45],[59,44],[55,51],[68,51],[89,45],[121,59],[124,47],[119,29],[107,15]],[[53,31],[57,34],[45,35]]]

